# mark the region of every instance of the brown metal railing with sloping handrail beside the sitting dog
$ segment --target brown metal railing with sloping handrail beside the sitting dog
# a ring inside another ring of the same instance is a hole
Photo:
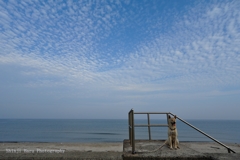
[[[147,114],[148,124],[135,125],[134,124],[134,114]],[[174,116],[174,114],[172,114],[171,112],[134,112],[134,110],[131,109],[128,113],[128,124],[129,124],[129,141],[130,141],[130,145],[132,146],[132,154],[135,154],[135,127],[148,127],[149,140],[151,140],[151,127],[168,127],[168,124],[152,124],[151,125],[150,124],[150,114],[166,114],[167,122],[168,122],[169,115]],[[180,121],[182,121],[183,123],[187,124],[188,126],[192,127],[193,129],[197,130],[198,132],[202,133],[203,135],[207,136],[211,140],[217,142],[221,146],[225,147],[228,150],[228,153],[231,153],[231,152],[235,153],[231,148],[229,148],[225,144],[221,143],[220,141],[216,140],[215,138],[211,137],[210,135],[204,133],[200,129],[194,127],[190,123],[184,121],[183,119],[181,119],[177,116],[176,116],[176,118],[179,119]]]

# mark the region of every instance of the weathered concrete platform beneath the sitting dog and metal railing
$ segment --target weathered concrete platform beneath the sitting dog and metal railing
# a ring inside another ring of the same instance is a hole
[[[211,160],[237,160],[240,159],[239,144],[225,144],[236,153],[228,153],[227,149],[215,142],[180,142],[180,149],[171,150],[166,145],[159,148],[164,141],[136,140],[135,154],[129,140],[123,142],[123,160],[132,159],[211,159]],[[156,150],[155,152],[153,152]]]

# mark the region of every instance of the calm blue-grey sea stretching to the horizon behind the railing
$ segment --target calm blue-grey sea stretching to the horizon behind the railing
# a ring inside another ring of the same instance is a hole
[[[240,143],[240,120],[187,120],[220,142]],[[136,119],[135,124],[147,124]],[[151,124],[167,124],[151,119]],[[179,141],[212,141],[177,121]],[[0,142],[122,142],[128,120],[121,119],[0,119]],[[135,127],[136,139],[148,139],[147,127]],[[155,140],[167,138],[167,127],[151,127]]]

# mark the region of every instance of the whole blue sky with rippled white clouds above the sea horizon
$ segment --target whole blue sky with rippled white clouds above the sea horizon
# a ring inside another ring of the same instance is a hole
[[[0,1],[0,118],[239,119],[240,1]]]

